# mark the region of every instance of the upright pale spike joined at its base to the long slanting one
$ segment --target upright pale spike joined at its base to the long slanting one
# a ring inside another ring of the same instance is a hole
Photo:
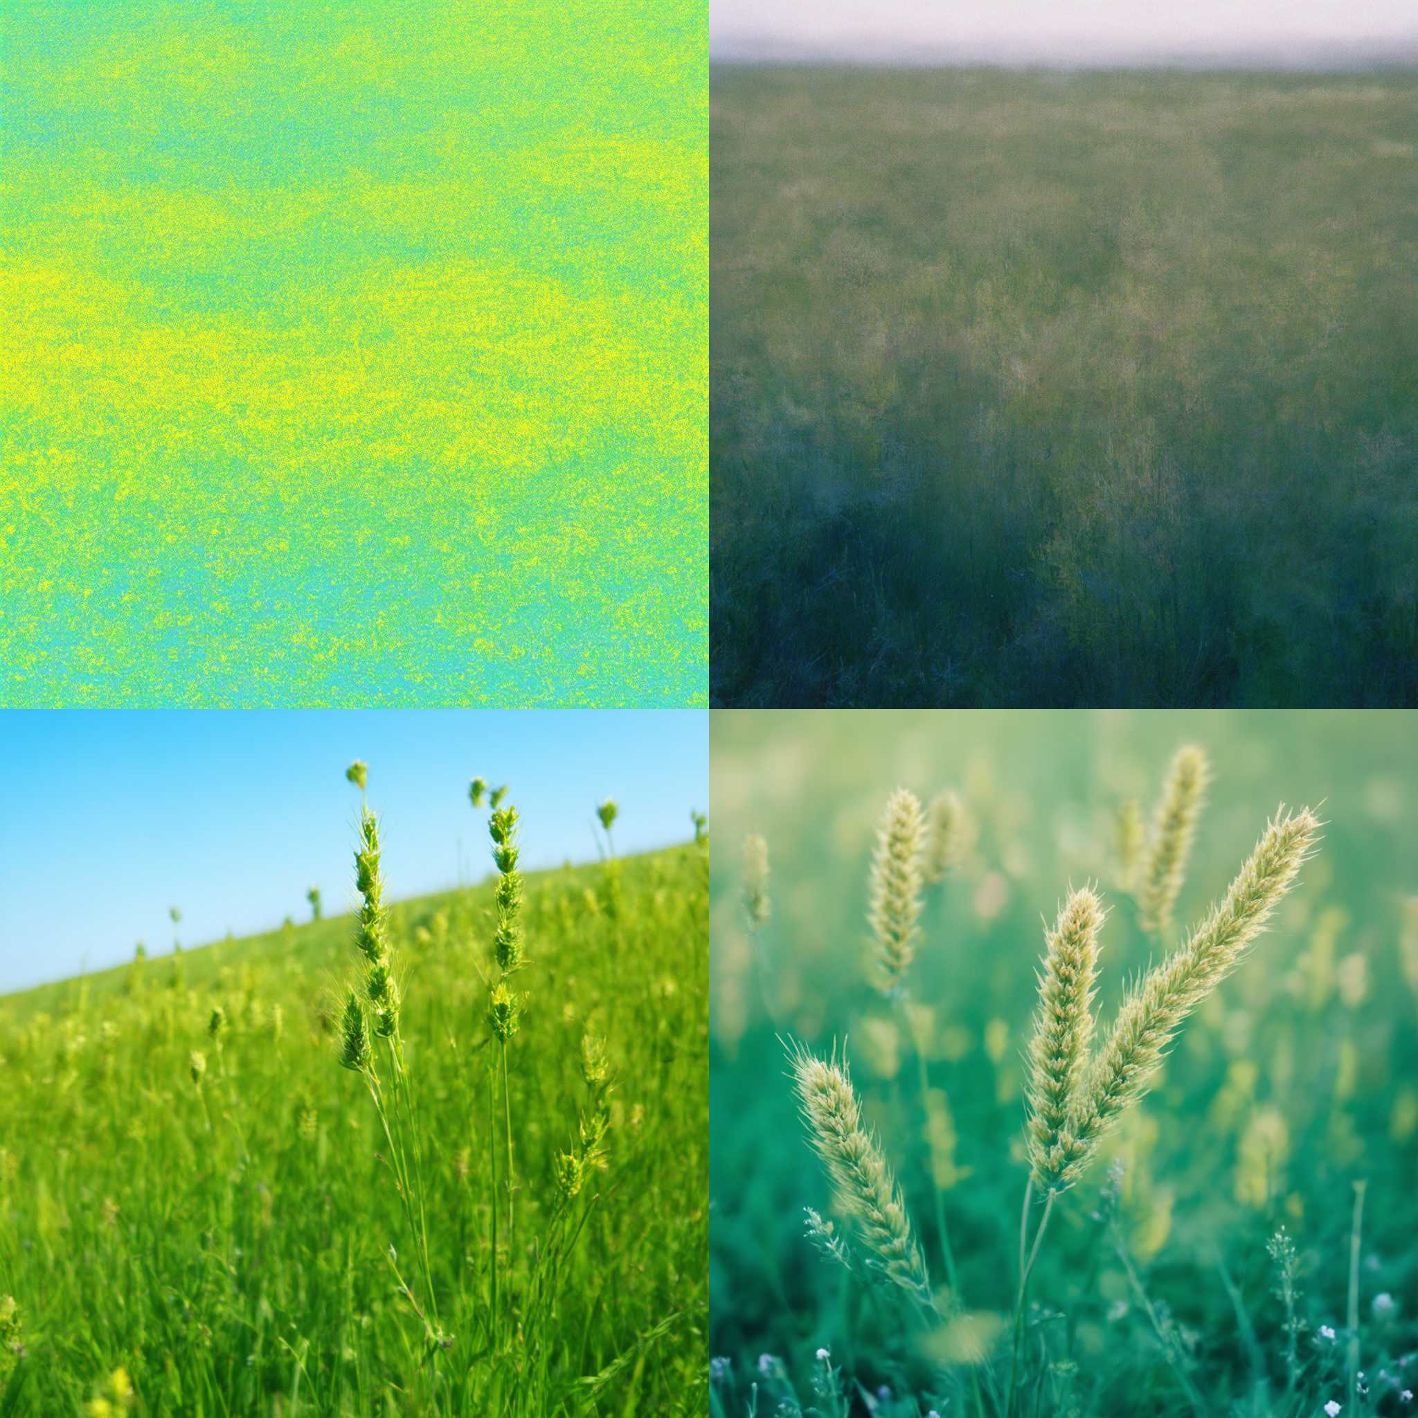
[[[1035,1185],[1048,1188],[1068,1161],[1069,1115],[1076,1110],[1093,1039],[1093,981],[1103,903],[1092,891],[1076,891],[1045,933],[1039,971],[1039,1008],[1029,1044],[1029,1167]]]

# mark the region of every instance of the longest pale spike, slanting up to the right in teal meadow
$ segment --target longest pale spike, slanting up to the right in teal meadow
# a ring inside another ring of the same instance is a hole
[[[1271,913],[1295,882],[1319,839],[1309,808],[1280,813],[1225,898],[1184,946],[1154,966],[1132,990],[1089,1069],[1086,1098],[1061,1137],[1056,1185],[1068,1185],[1088,1164],[1098,1140],[1151,1086],[1167,1045],[1188,1014],[1236,967]]]

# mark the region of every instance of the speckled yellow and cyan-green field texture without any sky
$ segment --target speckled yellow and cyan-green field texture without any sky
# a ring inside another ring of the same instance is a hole
[[[703,0],[0,27],[0,703],[706,703]]]

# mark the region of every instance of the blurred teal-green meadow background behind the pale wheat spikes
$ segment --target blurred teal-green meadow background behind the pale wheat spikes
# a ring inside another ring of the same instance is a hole
[[[1147,883],[1176,876],[1146,869],[1153,807],[1187,743],[1212,781],[1173,925],[1147,929]],[[712,752],[713,1414],[1412,1411],[1418,753],[1402,716],[716,713]],[[899,786],[926,803],[953,790],[963,814],[883,995],[869,866]],[[1011,1405],[1045,927],[1072,889],[1102,896],[1102,1056],[1124,983],[1202,923],[1282,800],[1320,807],[1317,851],[1051,1204]],[[1140,854],[1122,849],[1129,803]],[[761,858],[746,878],[747,834],[767,844],[766,885]],[[888,1265],[808,1146],[786,1045],[825,1059],[834,1041],[899,1183],[923,1292],[892,1283],[909,1249]],[[808,1207],[851,1272],[810,1242]]]

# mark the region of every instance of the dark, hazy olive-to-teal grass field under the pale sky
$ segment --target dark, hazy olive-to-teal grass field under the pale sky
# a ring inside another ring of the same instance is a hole
[[[1418,74],[710,123],[715,703],[1418,703]]]

